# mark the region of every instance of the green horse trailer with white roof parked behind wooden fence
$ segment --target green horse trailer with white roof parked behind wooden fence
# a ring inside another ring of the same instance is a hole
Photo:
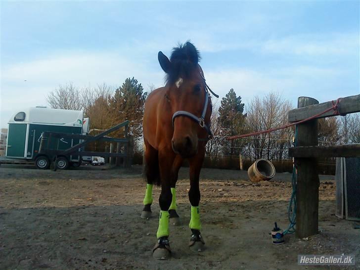
[[[8,122],[6,158],[34,161],[39,169],[47,169],[49,157],[39,154],[43,132],[58,132],[67,134],[83,134],[83,123],[89,119],[83,118],[83,111],[49,109],[31,107],[16,112]],[[89,123],[84,125],[89,129]],[[88,132],[88,131],[85,131]],[[65,150],[79,143],[79,139],[61,138],[56,148]],[[80,165],[80,155],[70,155],[67,161],[60,162],[65,169],[70,164]]]

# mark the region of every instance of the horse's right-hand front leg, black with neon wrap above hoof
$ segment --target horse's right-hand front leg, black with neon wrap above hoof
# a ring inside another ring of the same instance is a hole
[[[191,218],[189,227],[191,229],[189,247],[192,251],[199,252],[204,249],[204,239],[200,234],[201,222],[200,222],[200,189],[199,189],[199,177],[201,166],[204,160],[204,155],[198,154],[194,158],[190,159],[190,190],[189,201],[191,204]]]

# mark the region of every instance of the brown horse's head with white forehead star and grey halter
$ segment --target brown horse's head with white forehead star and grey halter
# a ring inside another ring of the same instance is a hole
[[[173,117],[172,147],[182,157],[191,157],[197,153],[199,133],[206,136],[201,128],[210,133],[212,109],[203,72],[198,64],[199,52],[187,42],[173,49],[170,60],[161,51],[158,58],[167,74],[165,98]]]

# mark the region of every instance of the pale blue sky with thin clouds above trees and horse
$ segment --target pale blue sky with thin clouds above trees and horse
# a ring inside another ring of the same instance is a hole
[[[279,91],[320,102],[360,93],[359,1],[1,1],[1,116],[49,91],[164,83],[157,53],[191,40],[208,85],[245,104]],[[26,80],[26,81],[24,81]],[[216,98],[215,98],[216,99]],[[215,100],[216,101],[216,100]],[[220,101],[219,101],[220,103]]]

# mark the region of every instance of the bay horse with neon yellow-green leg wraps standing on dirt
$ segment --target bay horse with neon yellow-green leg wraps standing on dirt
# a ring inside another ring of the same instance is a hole
[[[173,48],[170,60],[159,51],[158,60],[166,73],[166,85],[152,91],[145,101],[142,128],[147,184],[141,217],[151,216],[152,186],[161,185],[161,211],[153,257],[167,259],[171,256],[169,219],[174,220],[175,225],[179,223],[175,185],[184,159],[188,159],[190,167],[189,246],[193,251],[202,251],[205,245],[200,233],[199,175],[205,145],[211,137],[212,103],[210,88],[198,63],[200,55],[194,45],[186,42]]]

